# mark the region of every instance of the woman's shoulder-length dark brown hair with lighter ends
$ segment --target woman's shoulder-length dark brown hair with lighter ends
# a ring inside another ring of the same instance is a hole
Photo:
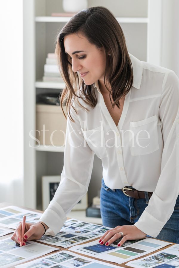
[[[127,52],[126,40],[121,26],[107,8],[98,6],[78,12],[65,24],[57,36],[55,54],[57,55],[61,75],[66,84],[61,93],[62,110],[65,105],[67,114],[73,121],[70,108],[72,107],[75,110],[74,100],[77,100],[80,107],[85,110],[88,109],[80,104],[79,98],[83,99],[92,108],[97,104],[94,84],[85,85],[77,72],[72,71],[72,64],[65,53],[64,37],[72,33],[81,33],[97,48],[104,47],[106,53],[104,84],[106,86],[106,82],[108,82],[111,86],[109,96],[112,107],[117,105],[120,108],[119,100],[132,87],[132,63]],[[75,112],[77,113],[76,110]]]

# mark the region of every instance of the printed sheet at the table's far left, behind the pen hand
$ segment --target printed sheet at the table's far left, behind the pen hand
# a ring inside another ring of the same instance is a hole
[[[42,214],[15,206],[0,208],[0,226],[16,229],[24,215],[26,222],[36,223]]]

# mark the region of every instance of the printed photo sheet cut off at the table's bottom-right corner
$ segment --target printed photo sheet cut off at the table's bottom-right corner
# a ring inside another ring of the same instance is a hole
[[[179,244],[175,244],[164,250],[158,251],[145,258],[136,261],[130,261],[126,264],[130,267],[157,267],[174,268],[179,267]]]

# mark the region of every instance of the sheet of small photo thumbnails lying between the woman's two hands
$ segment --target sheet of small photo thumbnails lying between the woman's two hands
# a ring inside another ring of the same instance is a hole
[[[56,236],[44,235],[38,241],[67,248],[94,238],[99,238],[109,229],[111,228],[82,222],[77,219],[69,219],[64,223],[61,231]]]

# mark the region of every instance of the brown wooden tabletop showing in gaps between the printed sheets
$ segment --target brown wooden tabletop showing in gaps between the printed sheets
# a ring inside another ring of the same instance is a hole
[[[9,204],[9,203],[0,203],[0,208],[3,208],[3,207],[7,207],[7,206],[10,206],[10,205],[12,205],[12,204]],[[21,208],[24,208],[24,209],[29,209],[29,208],[25,208],[25,207],[21,207]],[[39,210],[35,210],[35,209],[30,209],[31,211],[35,211],[35,212],[40,212],[40,213],[43,213],[43,211],[39,211]],[[12,230],[12,229],[11,229]],[[8,234],[8,235],[5,235],[5,236],[1,236],[0,237],[0,240],[1,239],[4,239],[4,238],[7,238],[7,237],[11,237],[12,236],[12,234]],[[91,241],[94,241],[95,239],[92,239]],[[38,242],[38,241],[37,241]],[[41,243],[41,242],[38,242],[38,243]],[[45,244],[45,243],[41,243],[41,244]],[[84,243],[81,243],[81,244],[85,244],[85,242]],[[174,243],[173,243],[174,244]],[[46,244],[47,245],[47,244]],[[165,248],[167,248],[167,247],[169,247],[169,246],[171,246],[172,244],[170,244],[170,245],[168,245],[168,246],[166,246],[166,247],[163,247],[163,249],[165,249]],[[48,246],[50,246],[49,244],[48,244]],[[50,255],[50,254],[53,254],[53,253],[56,253],[57,251],[59,251],[59,250],[67,250],[67,251],[70,251],[70,252],[72,252],[71,250],[70,250],[70,247],[68,247],[68,248],[66,248],[66,249],[64,249],[63,247],[58,247],[58,246],[53,246],[53,247],[56,247],[57,248],[57,250],[55,250],[55,251],[53,251],[53,252],[51,252],[51,253],[48,253],[48,254],[46,254],[46,255],[44,255],[44,256],[47,256],[47,255]],[[160,251],[161,249],[159,249],[159,250],[156,250],[156,251],[154,251],[153,253],[155,253],[155,252],[157,252],[157,251]],[[78,253],[79,254],[79,253]],[[143,255],[143,256],[141,256],[141,258],[143,258],[143,257],[145,257],[145,256],[148,256],[148,255],[151,255],[152,253],[149,253],[149,254],[146,254],[146,255]],[[87,255],[84,255],[84,254],[79,254],[79,255],[81,255],[81,256],[84,256],[84,257],[88,257]],[[42,256],[41,256],[42,257]],[[39,258],[41,258],[41,257],[39,257]],[[95,258],[95,257],[90,257],[90,258],[92,258],[92,259],[95,259],[95,260],[98,260],[98,261],[102,261],[102,260],[100,260],[100,259],[97,259],[97,258]],[[34,258],[33,260],[35,260],[35,259],[37,259],[37,258]],[[139,259],[139,258],[135,258],[135,259]],[[32,260],[31,260],[32,261]],[[29,262],[29,261],[27,261],[27,262]],[[119,267],[128,267],[129,268],[129,266],[126,266],[125,264],[128,262],[128,261],[126,261],[125,263],[123,263],[123,264],[116,264],[116,263],[113,263],[113,262],[109,262],[109,261],[104,261],[104,263],[105,262],[107,262],[107,263],[109,263],[109,264],[115,264],[115,265],[117,265],[117,266],[119,266]],[[25,262],[24,262],[25,263]],[[13,268],[14,266],[10,266],[9,268]]]

